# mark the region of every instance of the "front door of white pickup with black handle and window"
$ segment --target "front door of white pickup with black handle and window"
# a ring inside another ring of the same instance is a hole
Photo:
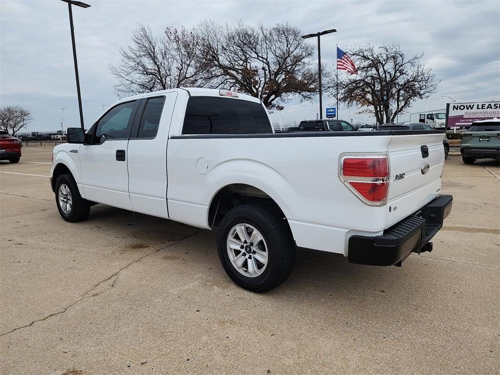
[[[85,198],[132,209],[128,196],[127,144],[138,100],[110,108],[91,128],[80,147],[81,184]]]

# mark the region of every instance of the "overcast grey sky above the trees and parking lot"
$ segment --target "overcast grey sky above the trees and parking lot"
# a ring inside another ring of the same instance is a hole
[[[416,102],[409,112],[442,109],[449,95],[456,101],[500,99],[500,2],[494,1],[106,1],[86,0],[73,7],[83,116],[90,126],[102,105],[117,99],[109,62],[128,45],[137,23],[156,34],[167,26],[195,26],[200,20],[272,26],[288,21],[304,33],[336,28],[321,39],[324,63],[334,63],[335,43],[397,42],[407,54],[423,52],[422,62],[440,80],[438,92]],[[29,109],[27,130],[79,126],[68,11],[58,0],[0,1],[0,104]],[[314,39],[309,39],[314,43]],[[340,72],[344,74],[343,72]],[[323,97],[323,107],[334,102]],[[356,108],[340,107],[340,117],[363,119]],[[324,110],[324,108],[323,108]],[[283,121],[316,117],[318,103],[293,100],[271,114]],[[349,116],[350,114],[350,116]],[[364,117],[364,118],[363,118]],[[409,119],[409,114],[399,120]],[[411,119],[416,119],[412,116]]]

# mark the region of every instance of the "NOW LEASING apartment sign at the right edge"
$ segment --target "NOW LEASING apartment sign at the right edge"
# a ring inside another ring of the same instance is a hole
[[[446,104],[446,127],[470,126],[477,120],[500,118],[500,101]]]

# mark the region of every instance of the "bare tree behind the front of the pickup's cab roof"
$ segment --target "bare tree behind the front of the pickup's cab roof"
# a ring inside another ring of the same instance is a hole
[[[120,47],[121,61],[109,65],[117,78],[118,94],[137,94],[205,82],[199,38],[184,27],[166,28],[161,37],[151,28],[138,24],[132,32],[132,45]]]

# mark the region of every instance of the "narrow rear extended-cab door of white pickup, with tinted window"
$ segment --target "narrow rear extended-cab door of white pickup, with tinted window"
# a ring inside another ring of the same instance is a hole
[[[142,99],[128,142],[128,190],[135,212],[168,218],[166,147],[176,92]]]

